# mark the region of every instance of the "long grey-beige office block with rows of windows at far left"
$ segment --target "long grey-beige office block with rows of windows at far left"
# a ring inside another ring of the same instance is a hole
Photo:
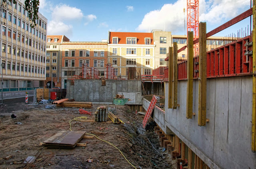
[[[8,1],[8,5],[3,6],[0,63],[4,98],[18,97],[24,91],[44,86],[47,19],[38,13],[36,22],[31,28],[24,0],[16,4]]]

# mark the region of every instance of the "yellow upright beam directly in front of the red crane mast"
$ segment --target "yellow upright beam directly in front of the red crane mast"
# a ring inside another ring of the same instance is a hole
[[[193,31],[188,31],[188,65],[187,65],[187,110],[186,118],[192,118],[193,109],[193,75],[194,75],[194,51],[193,51]]]

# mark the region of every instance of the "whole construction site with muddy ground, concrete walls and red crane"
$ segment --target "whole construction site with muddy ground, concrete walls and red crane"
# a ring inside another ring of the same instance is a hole
[[[66,89],[37,88],[26,104],[6,100],[0,169],[256,169],[252,5],[207,32],[199,0],[187,0],[186,44],[168,47],[152,75],[83,63],[66,69]],[[245,29],[206,50],[208,37],[248,17]]]

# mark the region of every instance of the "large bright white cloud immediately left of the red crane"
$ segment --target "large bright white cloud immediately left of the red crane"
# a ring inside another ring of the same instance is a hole
[[[164,4],[160,10],[148,12],[136,29],[139,31],[164,28],[166,31],[182,30],[184,29],[184,7],[186,8],[184,0],[178,0],[174,4]]]

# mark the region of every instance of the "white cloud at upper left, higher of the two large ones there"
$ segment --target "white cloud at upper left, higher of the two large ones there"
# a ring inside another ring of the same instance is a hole
[[[83,16],[82,10],[66,4],[56,6],[52,12],[52,20],[54,21],[82,19]]]

